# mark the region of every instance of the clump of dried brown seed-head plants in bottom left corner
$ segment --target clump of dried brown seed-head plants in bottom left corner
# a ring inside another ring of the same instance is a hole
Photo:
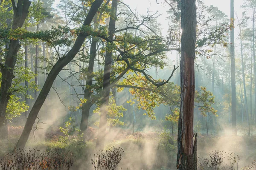
[[[37,148],[32,150],[16,149],[4,154],[0,159],[1,170],[70,170],[73,165],[72,152],[62,149],[44,153]]]

